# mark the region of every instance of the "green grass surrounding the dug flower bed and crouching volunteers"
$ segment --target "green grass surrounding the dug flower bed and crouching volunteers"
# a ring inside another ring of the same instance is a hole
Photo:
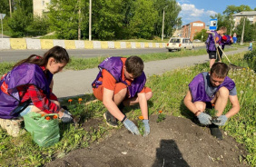
[[[243,54],[233,55],[232,64],[247,67],[246,62],[242,59]],[[192,78],[202,71],[207,71],[208,68],[209,64],[198,64],[149,77],[147,86],[153,90],[153,98],[149,102],[149,113],[158,114],[158,111],[162,111],[164,114],[192,118],[192,113],[183,105],[182,99]],[[237,85],[241,111],[231,117],[222,129],[233,136],[237,142],[246,146],[249,152],[246,161],[251,166],[256,166],[256,74],[250,69],[244,68],[239,71],[231,71],[229,76],[235,80]],[[102,119],[103,113],[106,111],[103,104],[96,102],[84,105],[84,103],[95,99],[93,94],[84,94],[82,99],[82,103],[78,103],[78,98],[73,98],[70,103],[68,99],[64,99],[63,104],[67,105],[71,113],[81,116],[81,123],[94,118]],[[225,112],[230,108],[231,104],[228,103]],[[133,120],[138,120],[138,116],[141,115],[138,105],[126,107],[125,111],[129,112],[127,117]],[[111,133],[111,128],[107,127],[105,123],[101,123],[98,128],[91,128],[87,131],[84,131],[80,126],[74,127],[73,124],[61,123],[60,129],[60,142],[48,148],[38,147],[29,133],[18,138],[12,138],[0,129],[0,164],[2,166],[41,166],[55,158],[64,157],[67,152],[74,149],[85,148],[92,142],[101,141],[105,135]]]

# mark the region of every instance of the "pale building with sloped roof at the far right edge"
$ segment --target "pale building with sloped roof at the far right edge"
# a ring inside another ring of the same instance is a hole
[[[251,24],[256,23],[256,11],[244,11],[237,14],[232,15],[233,20],[235,22],[235,27],[240,24],[240,20],[242,17],[247,17]]]

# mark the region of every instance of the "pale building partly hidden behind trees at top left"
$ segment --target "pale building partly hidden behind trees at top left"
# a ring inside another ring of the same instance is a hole
[[[33,0],[34,15],[41,16],[44,12],[47,12],[47,5],[50,3],[51,0]]]

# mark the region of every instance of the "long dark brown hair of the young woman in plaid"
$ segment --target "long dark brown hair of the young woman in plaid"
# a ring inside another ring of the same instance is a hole
[[[16,63],[15,66],[20,64],[37,64],[39,66],[45,66],[48,63],[50,57],[53,57],[57,63],[69,63],[70,58],[66,50],[61,46],[54,46],[48,50],[41,59],[36,58],[37,55],[32,54],[28,58]],[[14,66],[14,68],[15,68]]]

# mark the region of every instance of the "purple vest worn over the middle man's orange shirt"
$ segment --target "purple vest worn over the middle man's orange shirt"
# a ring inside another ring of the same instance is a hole
[[[92,86],[94,88],[97,88],[99,85],[102,84],[102,82],[98,80],[100,77],[103,76],[102,74],[103,69],[107,70],[110,74],[112,74],[117,83],[124,83],[128,85],[125,81],[122,80],[123,62],[121,60],[121,57],[106,58],[101,64],[99,64],[98,67],[100,69],[100,72],[97,75],[96,79],[94,80],[94,83],[92,83]],[[143,90],[145,83],[146,83],[146,75],[143,72],[143,74],[134,78],[131,85],[128,86],[128,91],[130,93],[129,98],[134,97],[136,93],[140,93]]]

